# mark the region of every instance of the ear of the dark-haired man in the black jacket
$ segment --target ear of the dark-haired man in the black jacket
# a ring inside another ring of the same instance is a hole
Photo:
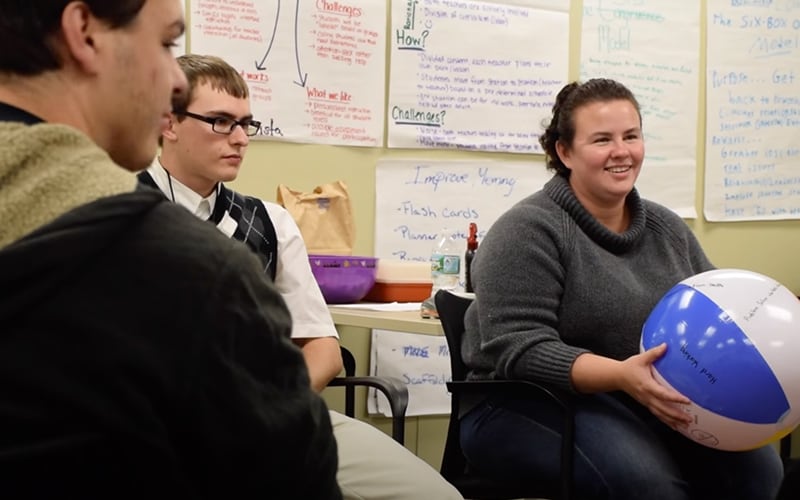
[[[61,33],[66,53],[63,57],[90,73],[100,71],[97,59],[97,35],[108,31],[108,27],[94,17],[89,6],[83,2],[70,2],[61,13]],[[64,61],[67,62],[67,61]]]

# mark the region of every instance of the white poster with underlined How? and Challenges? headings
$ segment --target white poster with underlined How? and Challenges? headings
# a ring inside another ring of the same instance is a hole
[[[389,147],[541,152],[567,79],[569,2],[520,4],[392,2]]]

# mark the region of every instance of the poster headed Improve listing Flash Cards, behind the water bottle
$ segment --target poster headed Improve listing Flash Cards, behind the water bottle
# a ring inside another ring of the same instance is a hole
[[[552,177],[543,161],[382,160],[375,171],[375,256],[428,262],[440,231],[478,240]]]

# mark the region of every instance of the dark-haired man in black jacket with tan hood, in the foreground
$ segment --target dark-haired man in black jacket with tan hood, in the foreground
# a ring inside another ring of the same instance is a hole
[[[341,499],[258,259],[134,174],[186,91],[183,11],[0,0],[4,498]]]

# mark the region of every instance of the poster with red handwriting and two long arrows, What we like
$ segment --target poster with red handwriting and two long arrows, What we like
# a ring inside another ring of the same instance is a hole
[[[191,52],[223,57],[241,72],[260,138],[383,145],[385,2],[189,5]]]

